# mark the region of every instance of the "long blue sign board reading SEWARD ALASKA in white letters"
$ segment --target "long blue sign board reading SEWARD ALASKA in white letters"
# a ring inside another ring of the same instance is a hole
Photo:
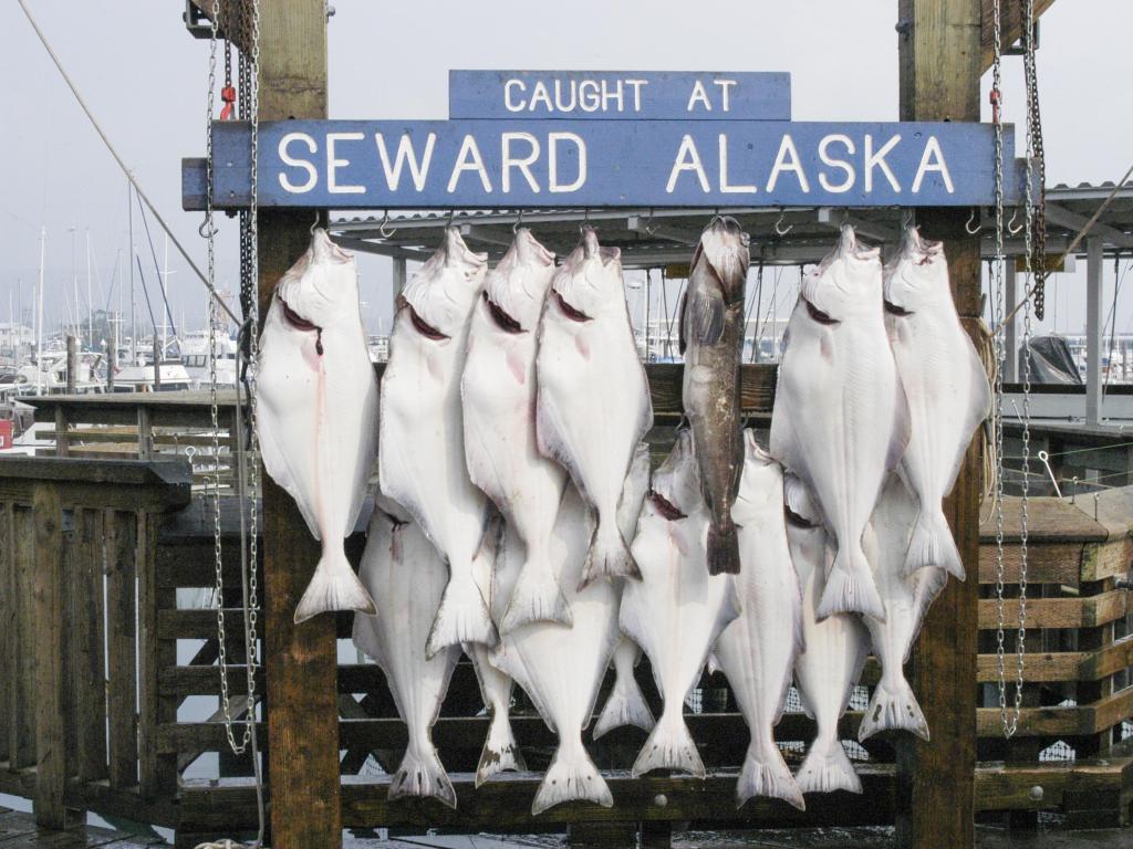
[[[249,201],[249,128],[213,125],[214,203]],[[519,208],[989,206],[989,125],[735,120],[278,121],[259,129],[259,204]],[[1005,134],[1007,203],[1020,197]],[[204,208],[187,160],[182,205]]]

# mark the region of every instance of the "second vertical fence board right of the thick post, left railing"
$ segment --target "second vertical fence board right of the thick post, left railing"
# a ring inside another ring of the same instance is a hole
[[[137,783],[137,628],[135,586],[137,517],[107,511],[107,712],[109,777],[113,788]]]

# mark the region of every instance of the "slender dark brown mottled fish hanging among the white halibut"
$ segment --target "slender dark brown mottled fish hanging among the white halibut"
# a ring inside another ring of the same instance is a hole
[[[740,358],[743,293],[748,284],[748,234],[735,218],[716,216],[700,237],[681,302],[682,401],[692,426],[712,523],[708,573],[740,571],[732,504],[743,470],[740,435]]]

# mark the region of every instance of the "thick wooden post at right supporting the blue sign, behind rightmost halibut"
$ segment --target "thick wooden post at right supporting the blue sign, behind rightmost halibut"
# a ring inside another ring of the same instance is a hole
[[[980,119],[980,0],[898,0],[901,120]],[[921,209],[923,234],[943,239],[956,309],[970,334],[980,315],[979,237],[964,230],[969,209]],[[945,513],[968,571],[929,611],[913,650],[911,681],[930,743],[897,746],[897,844],[970,849],[976,841],[974,773],[979,600],[978,438]]]

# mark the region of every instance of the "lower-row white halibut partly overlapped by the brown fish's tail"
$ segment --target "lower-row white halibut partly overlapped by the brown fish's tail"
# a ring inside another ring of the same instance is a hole
[[[619,624],[645,651],[665,700],[632,774],[682,770],[704,778],[705,766],[684,724],[684,700],[700,679],[708,650],[735,618],[732,580],[709,575],[705,547],[709,516],[700,494],[692,435],[682,430],[654,472],[638,520],[633,557],[641,581],[622,588]]]

